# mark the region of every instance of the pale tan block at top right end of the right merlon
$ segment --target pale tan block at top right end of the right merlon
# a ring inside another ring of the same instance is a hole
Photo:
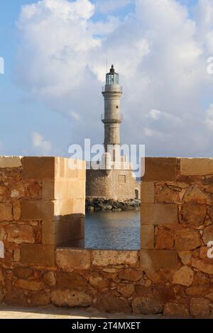
[[[183,176],[207,176],[213,174],[213,159],[180,159],[180,174]]]

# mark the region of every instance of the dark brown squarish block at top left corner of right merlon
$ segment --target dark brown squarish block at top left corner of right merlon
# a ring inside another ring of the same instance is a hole
[[[175,157],[146,157],[143,181],[175,181],[176,162]]]

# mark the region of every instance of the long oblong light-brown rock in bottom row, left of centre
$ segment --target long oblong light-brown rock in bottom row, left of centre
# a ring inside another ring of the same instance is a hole
[[[58,306],[87,307],[92,305],[92,298],[87,293],[70,289],[53,290],[51,294],[52,303]]]

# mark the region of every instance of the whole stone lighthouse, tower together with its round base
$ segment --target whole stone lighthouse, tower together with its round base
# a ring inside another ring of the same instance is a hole
[[[136,181],[133,168],[125,156],[120,154],[120,101],[122,88],[119,85],[119,74],[111,65],[106,75],[104,91],[104,150],[99,168],[92,163],[87,166],[86,195],[92,198],[125,201],[140,198],[140,182]],[[104,163],[103,163],[104,161]]]

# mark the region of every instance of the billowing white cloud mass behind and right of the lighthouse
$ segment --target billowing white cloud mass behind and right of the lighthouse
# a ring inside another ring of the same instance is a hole
[[[200,0],[194,18],[177,0],[135,0],[135,15],[93,21],[97,6],[109,12],[107,3],[41,0],[23,6],[18,85],[70,117],[72,142],[102,142],[100,92],[108,58],[124,86],[123,142],[145,143],[153,155],[212,152],[206,131],[212,116],[205,119],[202,107],[213,96],[213,76],[207,74],[212,1]]]

